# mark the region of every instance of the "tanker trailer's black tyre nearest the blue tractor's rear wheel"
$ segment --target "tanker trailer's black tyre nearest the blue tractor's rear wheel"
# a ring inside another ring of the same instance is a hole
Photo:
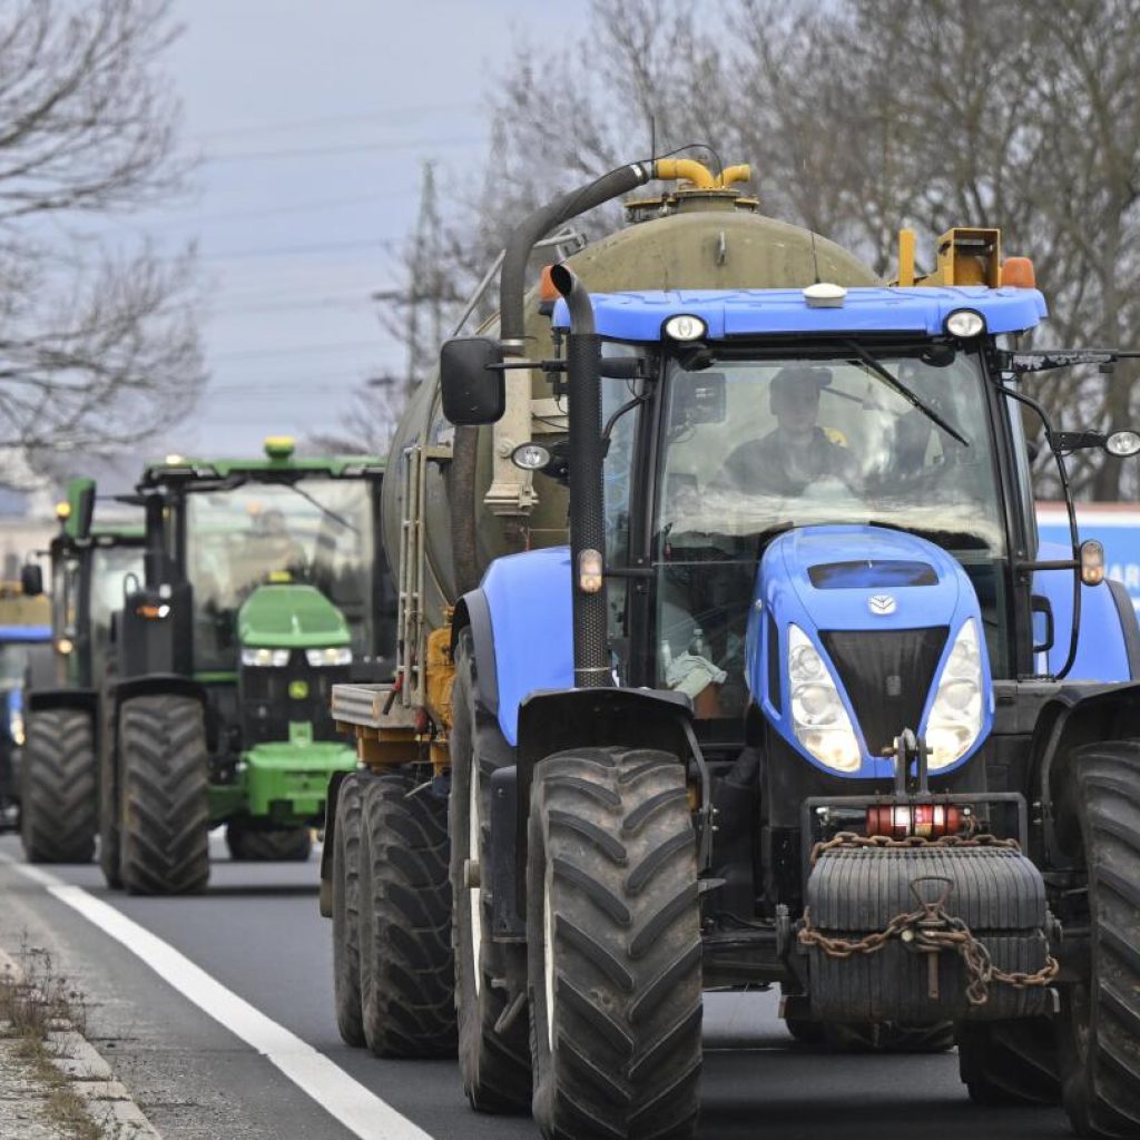
[[[447,803],[410,775],[364,792],[360,1001],[377,1057],[454,1057],[455,960]]]

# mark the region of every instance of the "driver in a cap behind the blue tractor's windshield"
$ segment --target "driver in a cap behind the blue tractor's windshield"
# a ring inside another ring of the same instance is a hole
[[[772,378],[768,406],[776,427],[763,439],[741,443],[725,461],[733,487],[773,495],[803,495],[820,479],[849,482],[852,454],[819,426],[820,393],[831,384],[830,368],[788,365]]]

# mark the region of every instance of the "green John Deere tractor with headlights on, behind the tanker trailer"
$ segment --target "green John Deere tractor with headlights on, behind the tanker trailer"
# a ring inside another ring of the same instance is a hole
[[[136,502],[141,580],[114,632],[104,872],[136,894],[202,890],[209,832],[237,860],[304,860],[329,777],[357,765],[334,682],[393,670],[396,598],[376,534],[384,463],[168,456]]]

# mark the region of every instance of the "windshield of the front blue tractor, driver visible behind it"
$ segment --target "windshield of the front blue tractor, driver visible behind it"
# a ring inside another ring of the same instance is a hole
[[[706,715],[742,707],[765,543],[814,523],[894,527],[953,553],[1003,675],[1005,539],[984,378],[975,356],[947,350],[931,363],[919,352],[669,365],[654,527],[659,670],[671,687],[686,670],[697,670],[689,687],[711,676]]]

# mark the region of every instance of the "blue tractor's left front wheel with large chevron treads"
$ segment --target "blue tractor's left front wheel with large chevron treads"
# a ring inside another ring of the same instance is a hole
[[[527,865],[535,1119],[547,1140],[697,1132],[697,849],[675,756],[542,762]]]

